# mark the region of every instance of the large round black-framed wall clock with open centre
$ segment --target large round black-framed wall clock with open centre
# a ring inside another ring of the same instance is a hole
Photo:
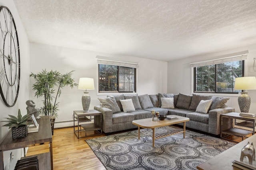
[[[5,6],[0,7],[0,31],[0,93],[12,107],[20,88],[20,49],[13,16]]]

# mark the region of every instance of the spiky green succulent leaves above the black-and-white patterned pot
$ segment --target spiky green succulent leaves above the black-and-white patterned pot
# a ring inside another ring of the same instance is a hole
[[[6,117],[6,119],[8,119],[8,121],[4,121],[4,122],[8,122],[6,125],[3,126],[8,126],[9,129],[12,127],[20,127],[22,125],[31,125],[33,124],[32,122],[28,122],[28,120],[30,119],[31,115],[24,115],[22,117],[21,113],[20,113],[20,109],[18,111],[18,116],[15,117],[13,115],[9,115],[10,117]]]

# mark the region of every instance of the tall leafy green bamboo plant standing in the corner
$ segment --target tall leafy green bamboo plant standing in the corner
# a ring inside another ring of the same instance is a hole
[[[72,78],[74,70],[66,74],[61,74],[58,71],[42,70],[38,74],[31,73],[30,77],[34,77],[36,82],[33,84],[33,90],[37,98],[43,97],[43,107],[39,109],[40,115],[50,115],[52,125],[52,135],[54,130],[54,121],[58,117],[59,102],[61,90],[65,86],[73,88],[77,86]]]

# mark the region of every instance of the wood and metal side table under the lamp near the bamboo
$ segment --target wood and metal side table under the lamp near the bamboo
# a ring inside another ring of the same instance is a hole
[[[78,139],[82,137],[87,137],[87,132],[88,131],[96,131],[98,134],[96,135],[101,135],[102,134],[102,113],[97,111],[97,110],[88,110],[88,111],[83,111],[83,110],[76,110],[73,111],[73,117],[74,117],[74,133],[78,137]],[[77,130],[76,130],[76,125],[75,121],[77,121]],[[93,123],[86,123],[86,124],[81,124],[83,122],[92,122]],[[82,128],[83,129],[82,129]],[[80,135],[81,131],[85,131],[85,136]],[[93,135],[90,135],[93,136]]]

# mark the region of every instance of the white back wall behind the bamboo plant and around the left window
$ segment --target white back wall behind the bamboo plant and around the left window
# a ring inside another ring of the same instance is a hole
[[[48,71],[58,70],[62,74],[75,70],[73,78],[78,84],[80,77],[94,78],[95,90],[88,90],[91,96],[90,109],[99,105],[97,96],[97,70],[98,64],[96,56],[110,57],[117,61],[126,61],[139,63],[138,68],[138,86],[137,93],[140,94],[157,94],[167,92],[167,62],[142,59],[131,56],[110,55],[97,53],[92,51],[83,51],[78,49],[69,49],[63,47],[55,47],[49,45],[30,44],[30,70],[33,73],[41,72],[43,69]],[[36,107],[42,106],[42,99],[34,97],[32,84],[34,78],[30,78],[30,99],[34,100]],[[58,100],[59,111],[56,122],[72,120],[74,110],[82,110],[81,98],[83,90],[78,90],[77,87],[71,89],[65,87]],[[73,125],[70,123],[55,123],[54,127],[62,127]]]

